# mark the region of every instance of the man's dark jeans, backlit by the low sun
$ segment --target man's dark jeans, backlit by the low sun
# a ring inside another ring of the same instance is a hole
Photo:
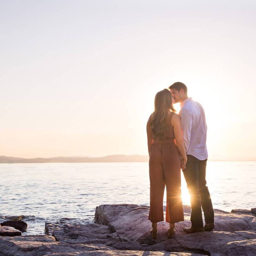
[[[205,180],[207,159],[199,160],[192,155],[187,155],[187,157],[188,162],[183,174],[190,194],[190,220],[193,228],[202,228],[204,225],[201,206],[204,211],[205,223],[214,222],[212,200]]]

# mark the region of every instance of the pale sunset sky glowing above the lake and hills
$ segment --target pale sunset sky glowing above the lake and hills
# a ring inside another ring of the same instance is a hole
[[[180,81],[204,107],[209,159],[256,159],[255,12],[254,0],[0,0],[0,155],[147,155],[156,92]]]

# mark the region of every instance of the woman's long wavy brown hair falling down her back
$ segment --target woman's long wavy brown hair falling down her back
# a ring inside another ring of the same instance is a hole
[[[150,118],[150,130],[153,139],[165,140],[164,132],[167,127],[166,117],[169,111],[176,112],[172,106],[172,94],[168,89],[157,92],[155,97],[155,111]]]

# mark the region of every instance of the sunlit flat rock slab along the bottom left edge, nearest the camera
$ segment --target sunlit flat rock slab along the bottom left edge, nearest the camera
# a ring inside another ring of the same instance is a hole
[[[0,238],[0,255],[5,256],[196,256],[187,252],[148,252],[113,250],[104,245],[65,244],[54,240],[52,236],[16,236]]]

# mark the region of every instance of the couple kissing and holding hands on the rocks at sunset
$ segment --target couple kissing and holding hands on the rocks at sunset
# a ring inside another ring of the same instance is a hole
[[[166,186],[166,222],[170,223],[168,237],[175,233],[175,222],[183,221],[180,168],[187,182],[191,201],[191,227],[187,234],[212,231],[214,211],[205,172],[207,161],[207,125],[203,107],[188,98],[187,86],[176,82],[157,92],[155,111],[147,123],[150,211],[152,238],[157,238],[157,222],[164,221],[163,197]],[[172,102],[180,102],[180,113],[175,114]],[[203,225],[202,210],[205,225]]]

